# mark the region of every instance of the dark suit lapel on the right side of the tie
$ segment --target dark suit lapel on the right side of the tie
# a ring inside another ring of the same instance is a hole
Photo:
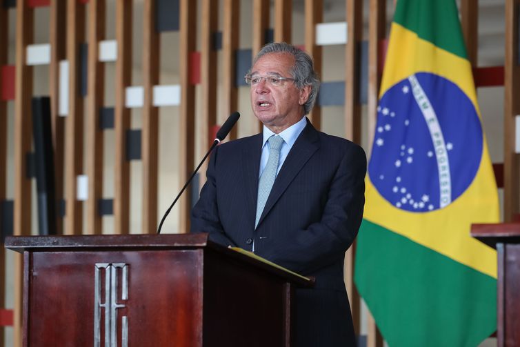
[[[294,142],[294,145],[292,146],[286,160],[283,162],[283,166],[281,167],[280,172],[274,181],[268,200],[266,202],[266,207],[263,208],[258,225],[261,224],[263,219],[271,210],[272,206],[274,206],[274,204],[278,201],[294,177],[296,177],[298,172],[301,171],[305,163],[310,159],[310,157],[314,154],[314,152],[316,152],[318,148],[318,131],[314,129],[310,121],[307,119],[307,126],[303,129],[296,142]],[[258,178],[255,188],[255,192],[258,194]]]

